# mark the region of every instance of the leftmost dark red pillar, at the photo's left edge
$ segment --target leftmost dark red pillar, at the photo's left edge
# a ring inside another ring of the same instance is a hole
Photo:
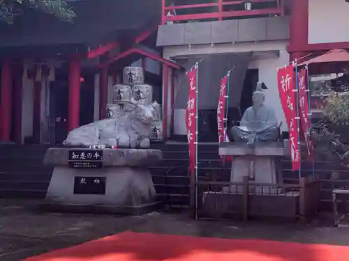
[[[1,141],[10,141],[12,113],[12,64],[6,59],[1,65]]]

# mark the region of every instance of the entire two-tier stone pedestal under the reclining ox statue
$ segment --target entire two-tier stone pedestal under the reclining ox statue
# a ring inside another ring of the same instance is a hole
[[[96,152],[100,161],[86,159]],[[160,150],[51,148],[44,163],[54,166],[54,171],[43,207],[114,214],[154,211],[160,204],[147,166],[161,158]]]

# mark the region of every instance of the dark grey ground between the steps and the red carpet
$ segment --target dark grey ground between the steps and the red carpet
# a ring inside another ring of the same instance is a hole
[[[197,237],[269,239],[349,245],[349,228],[295,223],[195,221],[182,213],[145,216],[50,214],[36,212],[38,201],[0,200],[0,260],[19,261],[125,230]]]

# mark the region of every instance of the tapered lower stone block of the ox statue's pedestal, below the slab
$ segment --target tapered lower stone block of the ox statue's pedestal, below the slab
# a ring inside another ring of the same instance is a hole
[[[93,184],[94,182],[98,183],[98,186]],[[84,184],[90,187],[83,187]],[[103,189],[101,186],[104,186]],[[91,206],[91,209],[98,206],[110,209],[149,205],[154,203],[155,198],[156,191],[148,170],[56,166],[44,204]]]

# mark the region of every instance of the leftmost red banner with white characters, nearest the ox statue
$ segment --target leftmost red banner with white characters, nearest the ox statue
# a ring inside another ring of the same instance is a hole
[[[196,79],[197,68],[193,68],[192,70],[186,73],[186,77],[188,78],[188,103],[186,106],[186,129],[187,129],[187,138],[189,145],[189,162],[190,162],[190,172],[191,175],[195,175],[195,165],[196,165],[196,91],[198,81]]]

